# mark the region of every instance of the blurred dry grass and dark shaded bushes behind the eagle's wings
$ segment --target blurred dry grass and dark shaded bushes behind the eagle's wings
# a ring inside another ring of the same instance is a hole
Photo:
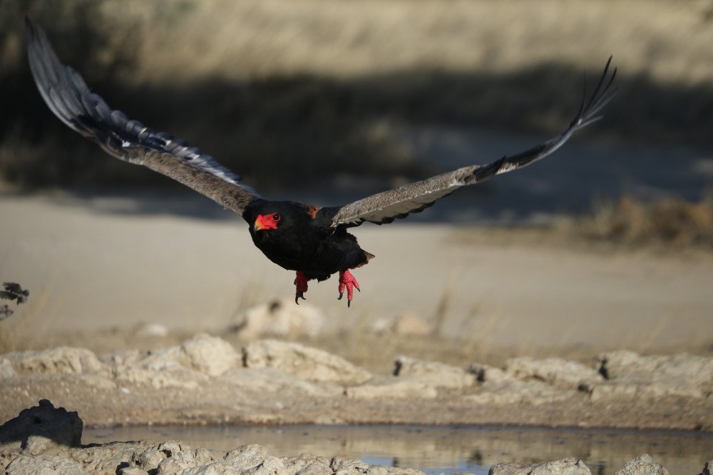
[[[0,180],[169,180],[102,157],[48,111],[24,16],[113,108],[250,184],[423,177],[411,125],[558,133],[606,58],[616,100],[585,134],[713,145],[709,1],[0,0]],[[641,12],[646,11],[646,15]]]

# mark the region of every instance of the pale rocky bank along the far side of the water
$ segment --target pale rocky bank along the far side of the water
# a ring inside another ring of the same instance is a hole
[[[516,357],[502,367],[396,359],[374,375],[299,343],[180,345],[0,357],[0,418],[48,399],[102,424],[525,424],[713,431],[713,359],[602,353],[595,366]],[[517,408],[517,410],[513,410]]]

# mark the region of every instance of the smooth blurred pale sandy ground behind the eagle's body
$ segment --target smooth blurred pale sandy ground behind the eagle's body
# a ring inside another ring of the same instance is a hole
[[[162,201],[215,208],[201,197],[156,198],[148,208],[141,199],[0,198],[1,278],[32,292],[4,322],[6,332],[16,327],[14,346],[140,323],[217,330],[252,304],[294,295],[293,274],[252,246],[242,220],[155,211]],[[405,221],[354,233],[376,259],[355,271],[362,291],[352,308],[337,301],[334,279],[307,293],[329,330],[369,328],[413,310],[431,323],[441,315],[445,335],[520,346],[685,347],[713,335],[706,254],[588,251],[531,237],[518,243],[512,233],[501,242],[493,231]]]

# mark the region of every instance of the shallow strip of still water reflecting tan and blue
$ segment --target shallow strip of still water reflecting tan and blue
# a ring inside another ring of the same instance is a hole
[[[275,456],[307,452],[357,457],[371,464],[418,468],[429,474],[487,474],[501,461],[539,463],[575,456],[593,474],[614,473],[650,454],[672,474],[697,474],[713,459],[713,434],[613,429],[431,426],[119,427],[86,429],[83,443],[181,439],[228,451],[260,444]]]

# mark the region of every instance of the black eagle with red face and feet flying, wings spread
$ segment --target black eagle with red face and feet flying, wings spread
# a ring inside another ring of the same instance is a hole
[[[352,303],[354,288],[359,290],[359,283],[350,270],[364,266],[374,255],[359,247],[349,228],[364,221],[386,224],[421,212],[461,187],[547,157],[575,131],[598,120],[597,114],[616,93],[611,89],[616,69],[609,77],[612,59],[609,58],[594,93],[589,99],[584,96],[579,112],[557,137],[486,165],[438,174],[344,206],[317,207],[270,201],[198,148],[113,110],[100,96],[91,93],[79,73],[59,61],[42,28],[33,26],[29,20],[26,28],[32,75],[50,110],[109,155],[165,174],[242,216],[250,226],[252,242],[267,259],[297,272],[296,303],[299,298],[304,299],[308,281],[315,278],[324,281],[333,273],[339,273],[339,299],[346,289],[347,306]]]

